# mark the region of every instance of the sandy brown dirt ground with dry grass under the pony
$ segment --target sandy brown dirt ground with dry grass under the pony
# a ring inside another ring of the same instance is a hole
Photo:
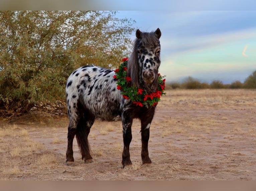
[[[89,134],[93,163],[74,139],[67,166],[67,117],[0,123],[1,180],[256,180],[256,91],[168,90],[150,127],[142,165],[140,121],[134,119],[124,169],[122,124],[96,121]]]

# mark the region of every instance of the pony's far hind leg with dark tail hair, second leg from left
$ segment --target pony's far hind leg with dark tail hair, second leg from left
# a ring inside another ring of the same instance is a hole
[[[82,154],[82,160],[92,159],[92,156],[90,154],[90,145],[88,142],[90,127],[88,127],[86,124],[87,121],[85,120],[85,118],[81,117],[77,124],[76,132],[77,144]]]

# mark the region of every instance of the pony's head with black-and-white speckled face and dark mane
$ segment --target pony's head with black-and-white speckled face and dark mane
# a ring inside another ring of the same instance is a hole
[[[142,33],[136,31],[134,49],[129,59],[128,75],[132,83],[150,87],[153,82],[158,82],[158,68],[160,66],[160,42],[161,31]]]

